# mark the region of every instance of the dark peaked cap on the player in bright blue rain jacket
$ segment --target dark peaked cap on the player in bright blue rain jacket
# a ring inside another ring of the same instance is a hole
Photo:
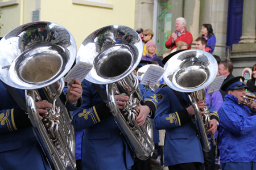
[[[224,90],[228,92],[229,90],[236,90],[240,88],[247,88],[245,83],[243,81],[245,78],[243,76],[236,76],[233,79],[230,79],[228,82],[226,82],[222,87],[221,90]]]

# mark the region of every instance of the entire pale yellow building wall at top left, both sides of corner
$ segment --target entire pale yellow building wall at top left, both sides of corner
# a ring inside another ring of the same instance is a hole
[[[36,1],[20,0],[19,5],[2,7],[1,36],[32,21]],[[0,0],[1,2],[1,0]],[[75,37],[77,48],[93,31],[106,25],[122,24],[134,28],[135,0],[106,0],[113,8],[78,5],[72,0],[40,0],[40,20],[62,25]]]

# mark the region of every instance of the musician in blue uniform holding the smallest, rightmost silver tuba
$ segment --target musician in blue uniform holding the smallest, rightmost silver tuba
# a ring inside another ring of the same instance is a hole
[[[165,64],[175,54],[163,59]],[[175,92],[163,84],[156,91],[158,96],[158,109],[154,118],[156,129],[165,129],[164,165],[172,169],[200,169],[204,163],[203,149],[197,130],[191,117],[195,114],[192,105],[189,106],[188,95],[184,92]],[[199,109],[205,108],[206,103],[198,101]],[[210,124],[208,131],[214,134],[217,130],[218,114],[210,107]]]

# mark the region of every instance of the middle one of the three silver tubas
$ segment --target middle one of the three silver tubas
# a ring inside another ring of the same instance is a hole
[[[147,118],[143,126],[135,121],[141,96],[139,82],[132,71],[141,61],[143,44],[141,37],[132,28],[124,25],[109,25],[91,33],[82,42],[76,62],[93,65],[85,76],[89,82],[107,84],[108,105],[115,121],[139,159],[147,159],[154,151],[152,124]],[[124,111],[119,111],[115,101],[118,87],[130,97]]]

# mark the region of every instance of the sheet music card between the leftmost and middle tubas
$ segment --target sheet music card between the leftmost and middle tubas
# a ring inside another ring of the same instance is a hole
[[[93,65],[85,62],[77,62],[76,65],[68,72],[65,76],[65,82],[72,82],[72,80],[77,79],[79,82],[84,80],[85,76],[92,70]]]

